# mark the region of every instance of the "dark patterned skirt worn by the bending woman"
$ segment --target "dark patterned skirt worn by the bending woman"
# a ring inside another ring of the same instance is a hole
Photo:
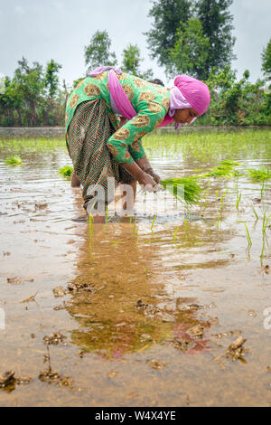
[[[70,121],[68,149],[75,174],[83,185],[85,209],[99,194],[105,196],[106,203],[114,200],[114,194],[108,194],[108,177],[114,177],[116,183],[129,184],[135,180],[107,148],[107,140],[114,132],[101,99],[80,103]]]

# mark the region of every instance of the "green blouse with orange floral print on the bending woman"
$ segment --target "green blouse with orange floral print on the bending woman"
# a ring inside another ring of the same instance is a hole
[[[117,74],[116,74],[117,75]],[[126,92],[137,115],[128,120],[123,127],[118,126],[118,118],[110,104],[108,90],[108,71],[97,77],[87,77],[70,95],[66,107],[66,140],[71,118],[81,102],[91,99],[103,99],[108,117],[116,132],[109,137],[107,147],[120,163],[132,164],[134,159],[143,158],[145,151],[141,137],[150,133],[163,121],[170,106],[170,90],[162,86],[141,80],[138,77],[123,73],[117,79]]]

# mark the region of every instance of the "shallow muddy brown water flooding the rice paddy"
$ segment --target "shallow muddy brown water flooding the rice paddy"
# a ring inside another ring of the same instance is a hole
[[[240,172],[270,165],[270,132],[240,134],[239,143],[220,135],[218,146],[208,134],[194,144],[161,135],[145,145],[164,177],[221,159],[238,160]],[[14,151],[22,166],[5,165]],[[33,381],[1,389],[0,404],[270,406],[268,226],[260,258],[270,184],[261,197],[261,184],[246,176],[210,179],[201,207],[173,203],[154,222],[145,212],[162,209],[162,194],[139,194],[135,222],[96,224],[90,238],[88,223],[72,220],[83,213],[80,189],[58,175],[68,164],[61,143],[1,145],[0,374]],[[55,297],[59,286],[66,295]],[[40,374],[49,368],[43,338],[53,333],[64,338],[49,345],[51,370],[66,380],[50,383]],[[234,361],[226,354],[239,335],[247,342]]]

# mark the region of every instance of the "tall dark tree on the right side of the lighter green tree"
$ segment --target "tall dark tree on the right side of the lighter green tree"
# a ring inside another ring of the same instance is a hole
[[[233,0],[198,0],[196,15],[202,24],[203,35],[209,39],[210,50],[205,61],[205,78],[213,67],[222,70],[235,59],[232,36],[233,16],[229,7]]]

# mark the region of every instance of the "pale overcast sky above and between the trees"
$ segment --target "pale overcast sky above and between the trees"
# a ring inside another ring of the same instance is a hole
[[[139,45],[145,61],[142,70],[166,82],[164,71],[151,61],[144,32],[150,0],[0,0],[0,73],[12,76],[17,61],[45,64],[54,59],[62,65],[61,79],[68,83],[85,72],[84,46],[97,30],[107,30],[111,48],[121,62],[129,42]],[[271,38],[271,1],[234,0],[234,35],[237,37],[233,68],[238,77],[250,71],[251,80],[261,76],[261,52]]]

